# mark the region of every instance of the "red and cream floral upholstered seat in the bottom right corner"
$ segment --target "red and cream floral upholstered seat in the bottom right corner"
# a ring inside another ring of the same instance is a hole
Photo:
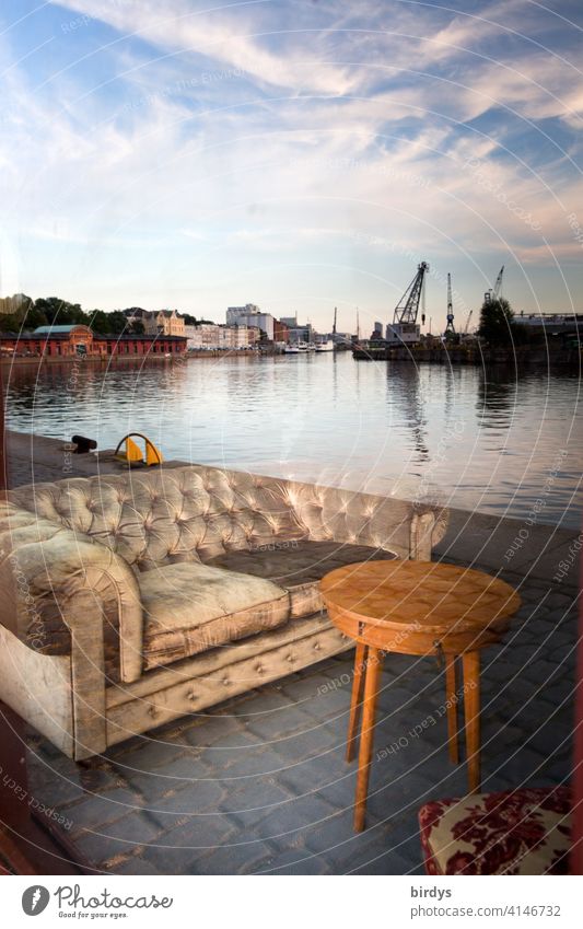
[[[567,787],[475,793],[419,811],[428,874],[567,874]]]

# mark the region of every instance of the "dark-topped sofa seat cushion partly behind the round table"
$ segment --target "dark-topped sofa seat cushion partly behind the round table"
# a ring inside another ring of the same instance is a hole
[[[292,618],[300,618],[324,608],[319,581],[329,571],[357,561],[378,561],[395,557],[392,551],[366,545],[291,539],[253,550],[226,551],[207,564],[267,578],[280,588],[285,588],[290,592],[290,615]]]

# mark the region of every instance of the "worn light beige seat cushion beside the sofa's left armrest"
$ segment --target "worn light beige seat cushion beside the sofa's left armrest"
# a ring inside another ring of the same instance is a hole
[[[290,595],[272,581],[183,562],[138,578],[144,670],[264,632],[290,618]]]

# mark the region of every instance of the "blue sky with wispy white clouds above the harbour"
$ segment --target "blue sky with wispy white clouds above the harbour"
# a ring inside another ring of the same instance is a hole
[[[583,311],[580,0],[3,0],[0,295]],[[470,326],[473,328],[473,325]]]

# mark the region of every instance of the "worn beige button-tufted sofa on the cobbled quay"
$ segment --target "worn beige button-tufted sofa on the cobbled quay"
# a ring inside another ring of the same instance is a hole
[[[188,465],[0,502],[0,698],[75,759],[350,648],[318,581],[443,510]]]

